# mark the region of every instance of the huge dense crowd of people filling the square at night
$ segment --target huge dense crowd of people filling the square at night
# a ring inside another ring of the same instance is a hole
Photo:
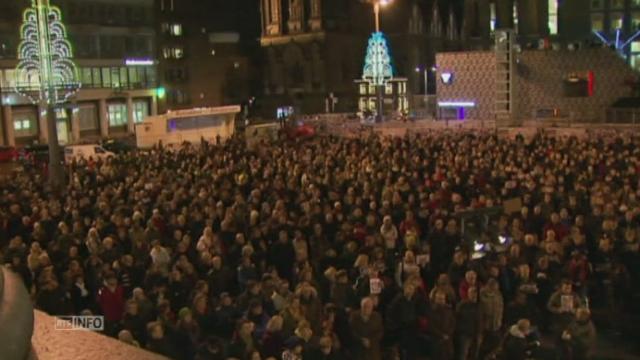
[[[38,309],[171,359],[588,359],[594,320],[636,310],[639,145],[238,136],[80,161],[56,191],[25,170],[1,258]]]

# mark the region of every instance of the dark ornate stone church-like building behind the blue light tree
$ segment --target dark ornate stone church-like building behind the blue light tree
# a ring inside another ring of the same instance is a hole
[[[433,1],[398,0],[381,10],[394,75],[409,79],[411,93],[424,91],[434,6]],[[359,87],[354,80],[362,77],[367,38],[374,31],[370,2],[261,0],[260,10],[266,113],[276,114],[278,107],[302,113],[355,111]],[[437,27],[443,24],[438,18]],[[440,30],[438,40],[446,32]]]

